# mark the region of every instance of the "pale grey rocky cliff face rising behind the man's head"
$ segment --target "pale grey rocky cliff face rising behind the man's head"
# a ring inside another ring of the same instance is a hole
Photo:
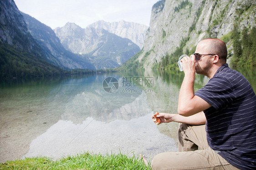
[[[181,42],[184,54],[204,38],[223,39],[233,30],[256,25],[255,0],[161,0],[152,8],[150,26],[138,61],[146,69],[171,54]],[[230,40],[227,42],[232,51]],[[191,55],[191,54],[187,54]],[[174,56],[176,60],[179,56]]]

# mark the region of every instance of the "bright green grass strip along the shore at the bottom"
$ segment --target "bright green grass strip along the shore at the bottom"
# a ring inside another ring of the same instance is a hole
[[[119,154],[90,154],[67,156],[60,160],[33,157],[6,161],[0,170],[152,170],[141,157]]]

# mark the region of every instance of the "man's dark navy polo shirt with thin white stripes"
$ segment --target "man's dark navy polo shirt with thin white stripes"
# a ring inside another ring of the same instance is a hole
[[[195,95],[212,105],[204,110],[209,146],[231,165],[256,170],[256,95],[246,78],[224,64]]]

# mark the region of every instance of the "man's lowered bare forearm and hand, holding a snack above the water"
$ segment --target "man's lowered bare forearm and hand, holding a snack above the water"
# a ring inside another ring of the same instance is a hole
[[[195,115],[191,115],[188,117],[179,115],[179,114],[169,114],[169,113],[159,113],[157,117],[160,118],[161,123],[169,123],[172,121],[185,123],[189,125],[203,125],[206,122],[206,117],[204,112],[199,112]]]

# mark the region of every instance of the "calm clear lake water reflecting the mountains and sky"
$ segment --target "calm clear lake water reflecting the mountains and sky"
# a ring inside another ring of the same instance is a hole
[[[255,70],[240,71],[255,90]],[[108,77],[117,81],[108,82]],[[177,151],[178,124],[155,125],[151,115],[176,113],[182,80],[183,72],[174,71],[1,83],[0,162],[38,155],[56,159],[84,151],[143,153],[149,160]],[[195,90],[207,81],[196,75]],[[106,87],[114,87],[113,93]]]

